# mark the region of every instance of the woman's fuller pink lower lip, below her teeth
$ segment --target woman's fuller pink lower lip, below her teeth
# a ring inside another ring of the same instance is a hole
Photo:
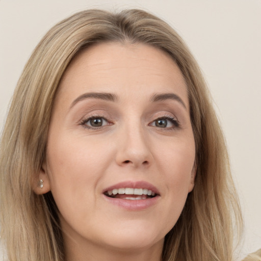
[[[160,198],[160,196],[155,196],[153,198],[131,200],[131,199],[111,198],[111,197],[107,197],[106,195],[103,195],[103,197],[105,197],[107,201],[109,201],[110,203],[116,206],[132,211],[145,210],[146,208],[156,204],[156,202]]]

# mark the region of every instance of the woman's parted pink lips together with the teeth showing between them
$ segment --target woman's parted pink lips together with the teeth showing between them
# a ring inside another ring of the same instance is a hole
[[[127,208],[142,210],[153,205],[160,196],[159,190],[146,181],[124,181],[103,190],[109,202]]]

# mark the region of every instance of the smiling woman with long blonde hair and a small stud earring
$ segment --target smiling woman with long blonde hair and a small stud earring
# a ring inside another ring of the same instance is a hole
[[[44,36],[0,166],[9,260],[233,259],[241,215],[211,98],[144,11],[83,11]]]

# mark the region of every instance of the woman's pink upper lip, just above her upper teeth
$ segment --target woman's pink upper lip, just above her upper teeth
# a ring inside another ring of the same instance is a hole
[[[121,188],[147,189],[147,190],[151,190],[155,194],[160,195],[159,190],[155,186],[153,186],[152,184],[150,184],[147,181],[142,181],[142,180],[141,181],[122,181],[122,182],[119,182],[115,185],[112,185],[112,186],[104,189],[102,191],[102,193],[106,193],[113,189],[121,189]]]

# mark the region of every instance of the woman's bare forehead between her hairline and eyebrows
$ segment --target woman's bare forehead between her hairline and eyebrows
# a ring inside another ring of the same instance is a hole
[[[71,100],[87,91],[121,95],[129,90],[174,91],[188,104],[187,86],[174,60],[141,43],[101,43],[82,50],[66,69],[58,96]]]

